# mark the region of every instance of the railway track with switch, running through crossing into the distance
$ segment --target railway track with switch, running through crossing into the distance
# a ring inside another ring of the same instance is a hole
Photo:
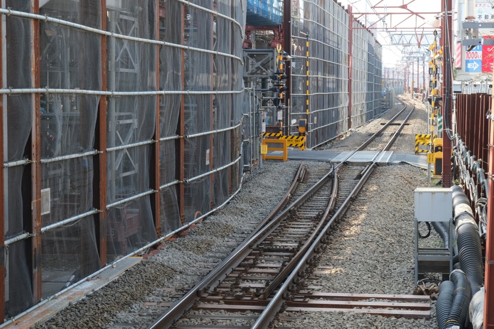
[[[280,205],[242,245],[149,328],[270,328],[288,308],[311,307],[309,298],[300,292],[307,296],[314,293],[314,287],[304,290],[300,279],[317,269],[317,255],[327,242],[331,225],[345,213],[376,165],[374,161],[365,167],[349,166],[345,161],[382,136],[387,139],[382,151],[389,149],[413,111],[405,114],[406,108],[328,171],[311,172],[301,166]],[[392,122],[401,115],[406,117],[394,129]],[[384,134],[390,127],[393,132]],[[218,315],[218,311],[224,314]],[[232,320],[242,325],[232,326]]]

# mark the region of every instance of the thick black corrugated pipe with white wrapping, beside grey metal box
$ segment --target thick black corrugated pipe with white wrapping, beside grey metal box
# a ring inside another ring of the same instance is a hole
[[[459,261],[470,281],[473,296],[484,283],[482,245],[470,201],[459,186],[453,186],[453,213]]]

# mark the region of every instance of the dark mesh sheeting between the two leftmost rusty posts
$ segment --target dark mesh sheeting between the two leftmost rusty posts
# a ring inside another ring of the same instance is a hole
[[[6,6],[13,10],[30,11],[28,0],[7,0]],[[14,16],[8,16],[5,20],[7,85],[12,88],[30,87],[32,86],[31,21]],[[31,131],[32,95],[11,95],[6,97],[6,103],[7,154],[4,154],[3,160],[21,160],[24,158],[24,150]],[[24,232],[24,212],[30,211],[30,202],[23,199],[21,190],[22,180],[26,175],[30,175],[30,172],[24,171],[24,167],[9,168],[4,173],[5,182],[7,182],[4,210],[6,239]],[[15,315],[33,303],[31,277],[26,258],[27,250],[24,240],[17,241],[6,249],[5,311],[7,315]]]

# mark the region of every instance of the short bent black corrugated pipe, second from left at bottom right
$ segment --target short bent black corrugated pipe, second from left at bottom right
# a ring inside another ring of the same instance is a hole
[[[450,274],[450,280],[454,283],[453,302],[451,304],[446,327],[459,326],[465,328],[467,323],[468,307],[470,305],[470,283],[465,273],[461,270],[454,270]]]

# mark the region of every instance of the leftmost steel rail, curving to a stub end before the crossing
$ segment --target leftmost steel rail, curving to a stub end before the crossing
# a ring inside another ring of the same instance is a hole
[[[278,205],[273,209],[265,219],[263,219],[259,225],[254,229],[252,233],[250,233],[246,240],[251,241],[253,237],[259,234],[259,231],[266,226],[268,222],[276,217],[276,215],[285,207],[291,197],[293,192],[298,186],[298,183],[302,182],[305,176],[306,167],[304,164],[300,164],[298,167],[297,173],[288,188],[287,193],[282,198],[282,200],[278,203]],[[203,280],[201,280],[194,288],[192,288],[188,293],[186,293],[179,301],[173,304],[165,314],[163,314],[155,323],[153,323],[149,329],[157,329],[157,328],[168,328],[170,327],[174,321],[178,320],[183,312],[194,304],[196,299],[200,296],[201,292],[204,292],[206,289],[212,289],[214,287],[213,282],[217,282],[219,284],[221,282],[220,277],[224,275],[225,269],[230,268],[230,271],[235,268],[236,265],[232,264],[232,261],[236,259],[234,255],[238,255],[243,252],[245,246],[248,246],[246,243],[237,247],[227,258],[225,258],[217,267],[215,267]],[[237,256],[238,257],[238,256]],[[239,259],[239,258],[237,258]],[[240,263],[243,260],[243,257],[240,258]],[[217,285],[216,284],[216,285]]]

